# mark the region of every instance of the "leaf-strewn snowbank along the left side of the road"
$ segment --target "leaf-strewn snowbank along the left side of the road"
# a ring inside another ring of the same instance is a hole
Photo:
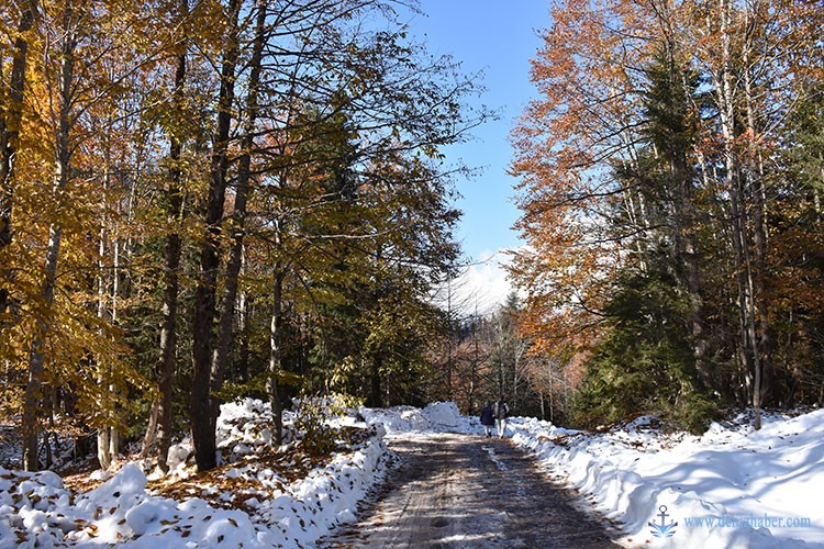
[[[265,444],[268,406],[247,400],[225,405],[219,421],[224,455],[248,453]],[[366,428],[365,424],[360,427]],[[0,548],[120,544],[126,548],[297,547],[350,522],[367,490],[382,478],[387,448],[382,430],[349,451],[335,453],[323,467],[289,482],[255,459],[241,460],[202,483],[200,494],[179,502],[152,494],[135,463],[125,464],[99,488],[71,493],[52,472],[26,473],[0,468]],[[178,445],[179,472],[187,445]],[[185,475],[183,475],[185,477]],[[232,482],[244,483],[242,508],[208,503],[234,502]]]

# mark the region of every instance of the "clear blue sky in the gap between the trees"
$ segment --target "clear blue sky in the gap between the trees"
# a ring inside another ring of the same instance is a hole
[[[530,59],[539,47],[537,31],[548,25],[548,0],[421,0],[425,15],[411,21],[417,40],[433,55],[449,54],[466,74],[483,71],[486,92],[477,100],[500,113],[500,120],[474,131],[476,139],[446,150],[447,161],[463,160],[483,168],[471,180],[457,181],[464,197],[458,238],[474,259],[520,245],[511,231],[517,219],[512,202],[514,179],[506,175],[512,159],[509,133],[535,94]]]

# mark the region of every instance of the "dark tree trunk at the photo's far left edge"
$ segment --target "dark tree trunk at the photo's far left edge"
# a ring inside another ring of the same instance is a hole
[[[14,159],[18,154],[20,126],[23,120],[25,71],[29,59],[29,32],[34,26],[37,3],[27,2],[20,14],[14,40],[9,93],[0,107],[0,253],[12,242],[11,220],[14,201]],[[0,267],[0,326],[9,306],[9,273]]]

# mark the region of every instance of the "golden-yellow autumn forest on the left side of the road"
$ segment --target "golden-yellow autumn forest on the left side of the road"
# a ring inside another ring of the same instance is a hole
[[[211,469],[238,395],[421,401],[460,254],[441,149],[488,113],[400,8],[3,2],[0,401],[25,469],[58,432],[103,468],[145,433],[165,468],[186,430]]]

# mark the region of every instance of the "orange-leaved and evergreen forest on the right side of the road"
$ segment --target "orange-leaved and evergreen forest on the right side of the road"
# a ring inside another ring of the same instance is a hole
[[[511,273],[575,423],[824,404],[822,14],[554,3],[513,131]]]

